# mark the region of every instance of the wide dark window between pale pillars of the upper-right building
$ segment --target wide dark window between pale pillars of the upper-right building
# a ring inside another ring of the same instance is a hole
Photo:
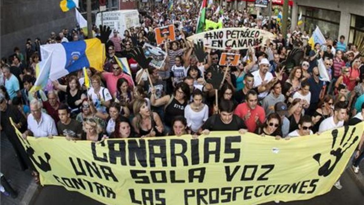
[[[298,11],[302,11],[302,20],[305,23],[304,30],[308,34],[311,34],[318,26],[323,35],[327,35],[331,39],[338,38],[340,12],[303,6],[299,6]]]

